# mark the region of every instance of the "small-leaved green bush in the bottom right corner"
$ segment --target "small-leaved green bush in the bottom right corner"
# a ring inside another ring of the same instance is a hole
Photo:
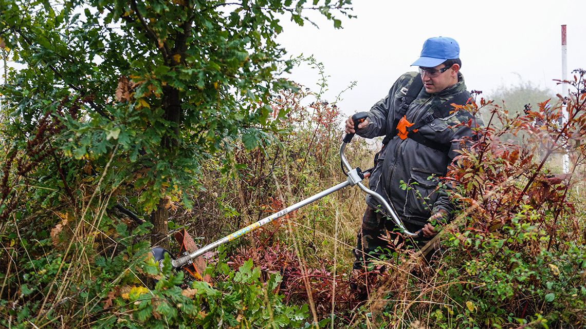
[[[435,325],[446,327],[449,320],[500,328],[526,324],[529,317],[536,318],[534,327],[584,321],[586,249],[573,241],[550,251],[531,248],[549,238],[532,224],[535,215],[527,209],[498,232],[458,231],[449,237],[438,280],[449,286],[444,303],[453,307],[437,308]]]

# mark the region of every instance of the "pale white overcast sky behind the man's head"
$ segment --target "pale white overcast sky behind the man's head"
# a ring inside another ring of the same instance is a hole
[[[317,19],[319,29],[284,24],[279,42],[291,56],[313,54],[329,78],[333,101],[351,81],[339,107],[346,114],[367,111],[410,67],[428,37],[449,36],[460,44],[468,90],[484,95],[516,85],[519,76],[561,92],[561,25],[567,25],[568,77],[586,68],[586,0],[383,1],[354,0],[354,19],[342,29]],[[291,78],[316,88],[317,72],[295,68]]]

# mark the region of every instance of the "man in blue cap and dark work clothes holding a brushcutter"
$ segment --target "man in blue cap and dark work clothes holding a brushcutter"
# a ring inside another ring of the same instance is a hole
[[[362,268],[377,248],[393,251],[425,245],[439,226],[451,220],[454,205],[446,189],[438,189],[438,177],[445,176],[462,142],[473,136],[471,126],[482,125],[481,119],[452,105],[465,105],[471,97],[454,39],[426,40],[421,57],[411,66],[419,66],[419,74],[403,74],[367,112],[357,131],[352,117],[345,131],[364,138],[386,136],[375,159],[370,189],[389,201],[409,231],[421,230],[423,237],[404,241],[384,207],[368,196],[354,249],[355,269]]]

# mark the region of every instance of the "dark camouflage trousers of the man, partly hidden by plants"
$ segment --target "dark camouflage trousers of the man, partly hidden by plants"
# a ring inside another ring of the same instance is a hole
[[[421,229],[421,226],[403,223],[411,232]],[[355,256],[354,269],[362,269],[372,259],[389,259],[393,253],[405,249],[420,249],[427,242],[425,238],[410,238],[400,234],[397,224],[391,219],[367,207],[362,217],[362,226],[356,235],[357,244],[353,249]],[[432,252],[428,253],[431,257]],[[425,257],[428,258],[427,256]],[[429,259],[428,259],[429,260]]]

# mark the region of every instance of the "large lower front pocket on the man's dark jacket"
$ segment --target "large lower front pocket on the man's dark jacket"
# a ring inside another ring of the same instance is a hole
[[[418,217],[427,220],[431,209],[438,198],[438,173],[413,168],[407,182],[407,195],[403,213],[407,217]]]

